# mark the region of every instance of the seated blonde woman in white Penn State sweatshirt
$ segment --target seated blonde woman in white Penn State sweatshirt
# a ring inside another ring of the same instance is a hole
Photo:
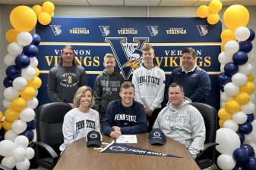
[[[64,143],[59,150],[65,150],[68,144],[87,136],[92,130],[100,131],[99,113],[91,109],[93,91],[88,86],[78,88],[74,94],[74,109],[68,111],[64,117],[62,133]]]

